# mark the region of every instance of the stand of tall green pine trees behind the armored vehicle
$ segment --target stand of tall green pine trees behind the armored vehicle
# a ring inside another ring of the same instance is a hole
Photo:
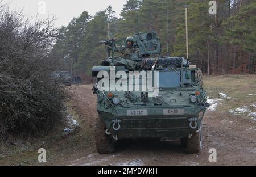
[[[216,2],[217,15],[209,15],[208,0],[128,0],[119,19],[114,17],[111,6],[93,17],[83,12],[59,30],[52,56],[63,58],[65,66],[75,75],[90,75],[92,66],[106,58],[105,48],[98,42],[108,37],[108,22],[113,37],[120,39],[137,32],[138,19],[138,32],[158,32],[161,56],[185,57],[184,5],[189,5],[192,64],[208,74],[255,72],[256,2]]]

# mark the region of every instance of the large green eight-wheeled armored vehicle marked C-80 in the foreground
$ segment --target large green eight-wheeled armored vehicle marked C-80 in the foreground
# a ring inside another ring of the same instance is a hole
[[[156,32],[135,33],[133,39],[138,53],[127,57],[119,54],[127,47],[125,39],[100,42],[108,58],[92,69],[98,153],[112,153],[118,140],[137,138],[180,141],[189,153],[199,153],[209,107],[200,70],[183,57],[159,57]]]

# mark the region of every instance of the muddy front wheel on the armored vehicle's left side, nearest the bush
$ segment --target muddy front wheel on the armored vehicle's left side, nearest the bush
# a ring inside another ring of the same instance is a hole
[[[99,154],[110,154],[114,152],[114,144],[110,137],[105,133],[105,125],[100,117],[97,117],[95,125],[95,142]]]

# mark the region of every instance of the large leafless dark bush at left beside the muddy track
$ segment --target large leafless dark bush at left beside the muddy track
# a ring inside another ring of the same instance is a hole
[[[67,91],[52,78],[59,61],[48,57],[53,21],[32,22],[0,7],[0,137],[48,132],[63,117]]]

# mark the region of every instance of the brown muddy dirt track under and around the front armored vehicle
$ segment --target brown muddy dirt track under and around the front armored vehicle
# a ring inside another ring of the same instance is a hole
[[[74,87],[73,102],[86,128],[93,132],[97,117],[92,85]],[[68,165],[256,165],[256,123],[223,112],[208,111],[203,124],[203,150],[187,154],[179,144],[155,140],[129,140],[114,154],[99,155],[94,140],[79,158]],[[217,150],[217,162],[209,162],[210,148]]]

